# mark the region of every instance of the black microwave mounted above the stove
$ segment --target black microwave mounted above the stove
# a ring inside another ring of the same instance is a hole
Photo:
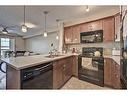
[[[103,30],[89,31],[80,33],[81,43],[100,43],[103,42]]]

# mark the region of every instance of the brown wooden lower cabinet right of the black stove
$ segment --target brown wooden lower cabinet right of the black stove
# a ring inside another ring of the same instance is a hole
[[[120,66],[111,58],[105,58],[104,84],[112,88],[121,88]]]

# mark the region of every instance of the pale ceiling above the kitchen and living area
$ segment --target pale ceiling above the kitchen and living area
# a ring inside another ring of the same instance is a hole
[[[26,6],[26,22],[33,24],[27,33],[21,31],[23,23],[23,6],[0,6],[0,25],[16,26],[8,28],[9,32],[23,36],[30,34],[43,33],[44,30],[44,11],[49,11],[47,15],[47,30],[57,27],[56,19],[66,22],[77,18],[93,15],[99,11],[118,9],[119,6],[89,6],[90,11],[86,12],[86,6]]]

